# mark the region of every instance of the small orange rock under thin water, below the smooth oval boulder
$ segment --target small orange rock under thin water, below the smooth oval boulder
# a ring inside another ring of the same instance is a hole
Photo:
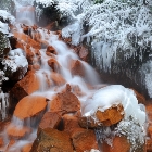
[[[25,135],[29,134],[31,130],[27,127],[21,127],[18,128],[17,126],[14,125],[10,125],[7,128],[7,134],[10,138],[14,138],[14,139],[21,139],[23,138]]]

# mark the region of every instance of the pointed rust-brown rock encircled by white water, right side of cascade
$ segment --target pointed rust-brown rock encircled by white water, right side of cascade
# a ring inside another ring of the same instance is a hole
[[[79,75],[81,77],[85,75],[85,68],[79,60],[72,62],[71,71],[73,75]]]

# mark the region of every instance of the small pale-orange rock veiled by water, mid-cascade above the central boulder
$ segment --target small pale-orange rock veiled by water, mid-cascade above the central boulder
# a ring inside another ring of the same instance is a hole
[[[64,85],[66,81],[65,79],[62,77],[62,75],[58,74],[58,73],[51,73],[51,79],[54,81],[55,85],[61,86]]]

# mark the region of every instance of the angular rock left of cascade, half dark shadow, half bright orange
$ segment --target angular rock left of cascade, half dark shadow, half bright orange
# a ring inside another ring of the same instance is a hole
[[[28,72],[26,76],[15,84],[15,86],[11,90],[11,96],[16,100],[21,100],[22,98],[35,92],[39,89],[39,80],[35,75],[35,72]]]

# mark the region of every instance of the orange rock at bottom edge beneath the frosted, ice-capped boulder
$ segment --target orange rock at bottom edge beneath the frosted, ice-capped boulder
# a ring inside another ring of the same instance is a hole
[[[129,152],[130,143],[126,137],[115,137],[113,139],[113,147],[103,142],[102,144],[103,152]]]

